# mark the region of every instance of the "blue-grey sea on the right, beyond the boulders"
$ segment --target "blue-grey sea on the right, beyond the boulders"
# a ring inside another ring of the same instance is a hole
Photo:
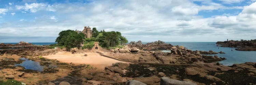
[[[147,42],[143,42],[146,44]],[[219,63],[223,65],[233,65],[233,64],[241,64],[245,62],[256,62],[256,51],[237,51],[236,48],[229,47],[218,47],[216,46],[216,42],[165,42],[171,44],[173,46],[179,45],[184,46],[187,49],[191,50],[201,50],[201,51],[209,51],[212,50],[214,52],[223,51],[225,54],[213,54],[218,55],[219,57],[226,57],[227,60],[219,61]],[[231,51],[231,49],[233,51]]]

